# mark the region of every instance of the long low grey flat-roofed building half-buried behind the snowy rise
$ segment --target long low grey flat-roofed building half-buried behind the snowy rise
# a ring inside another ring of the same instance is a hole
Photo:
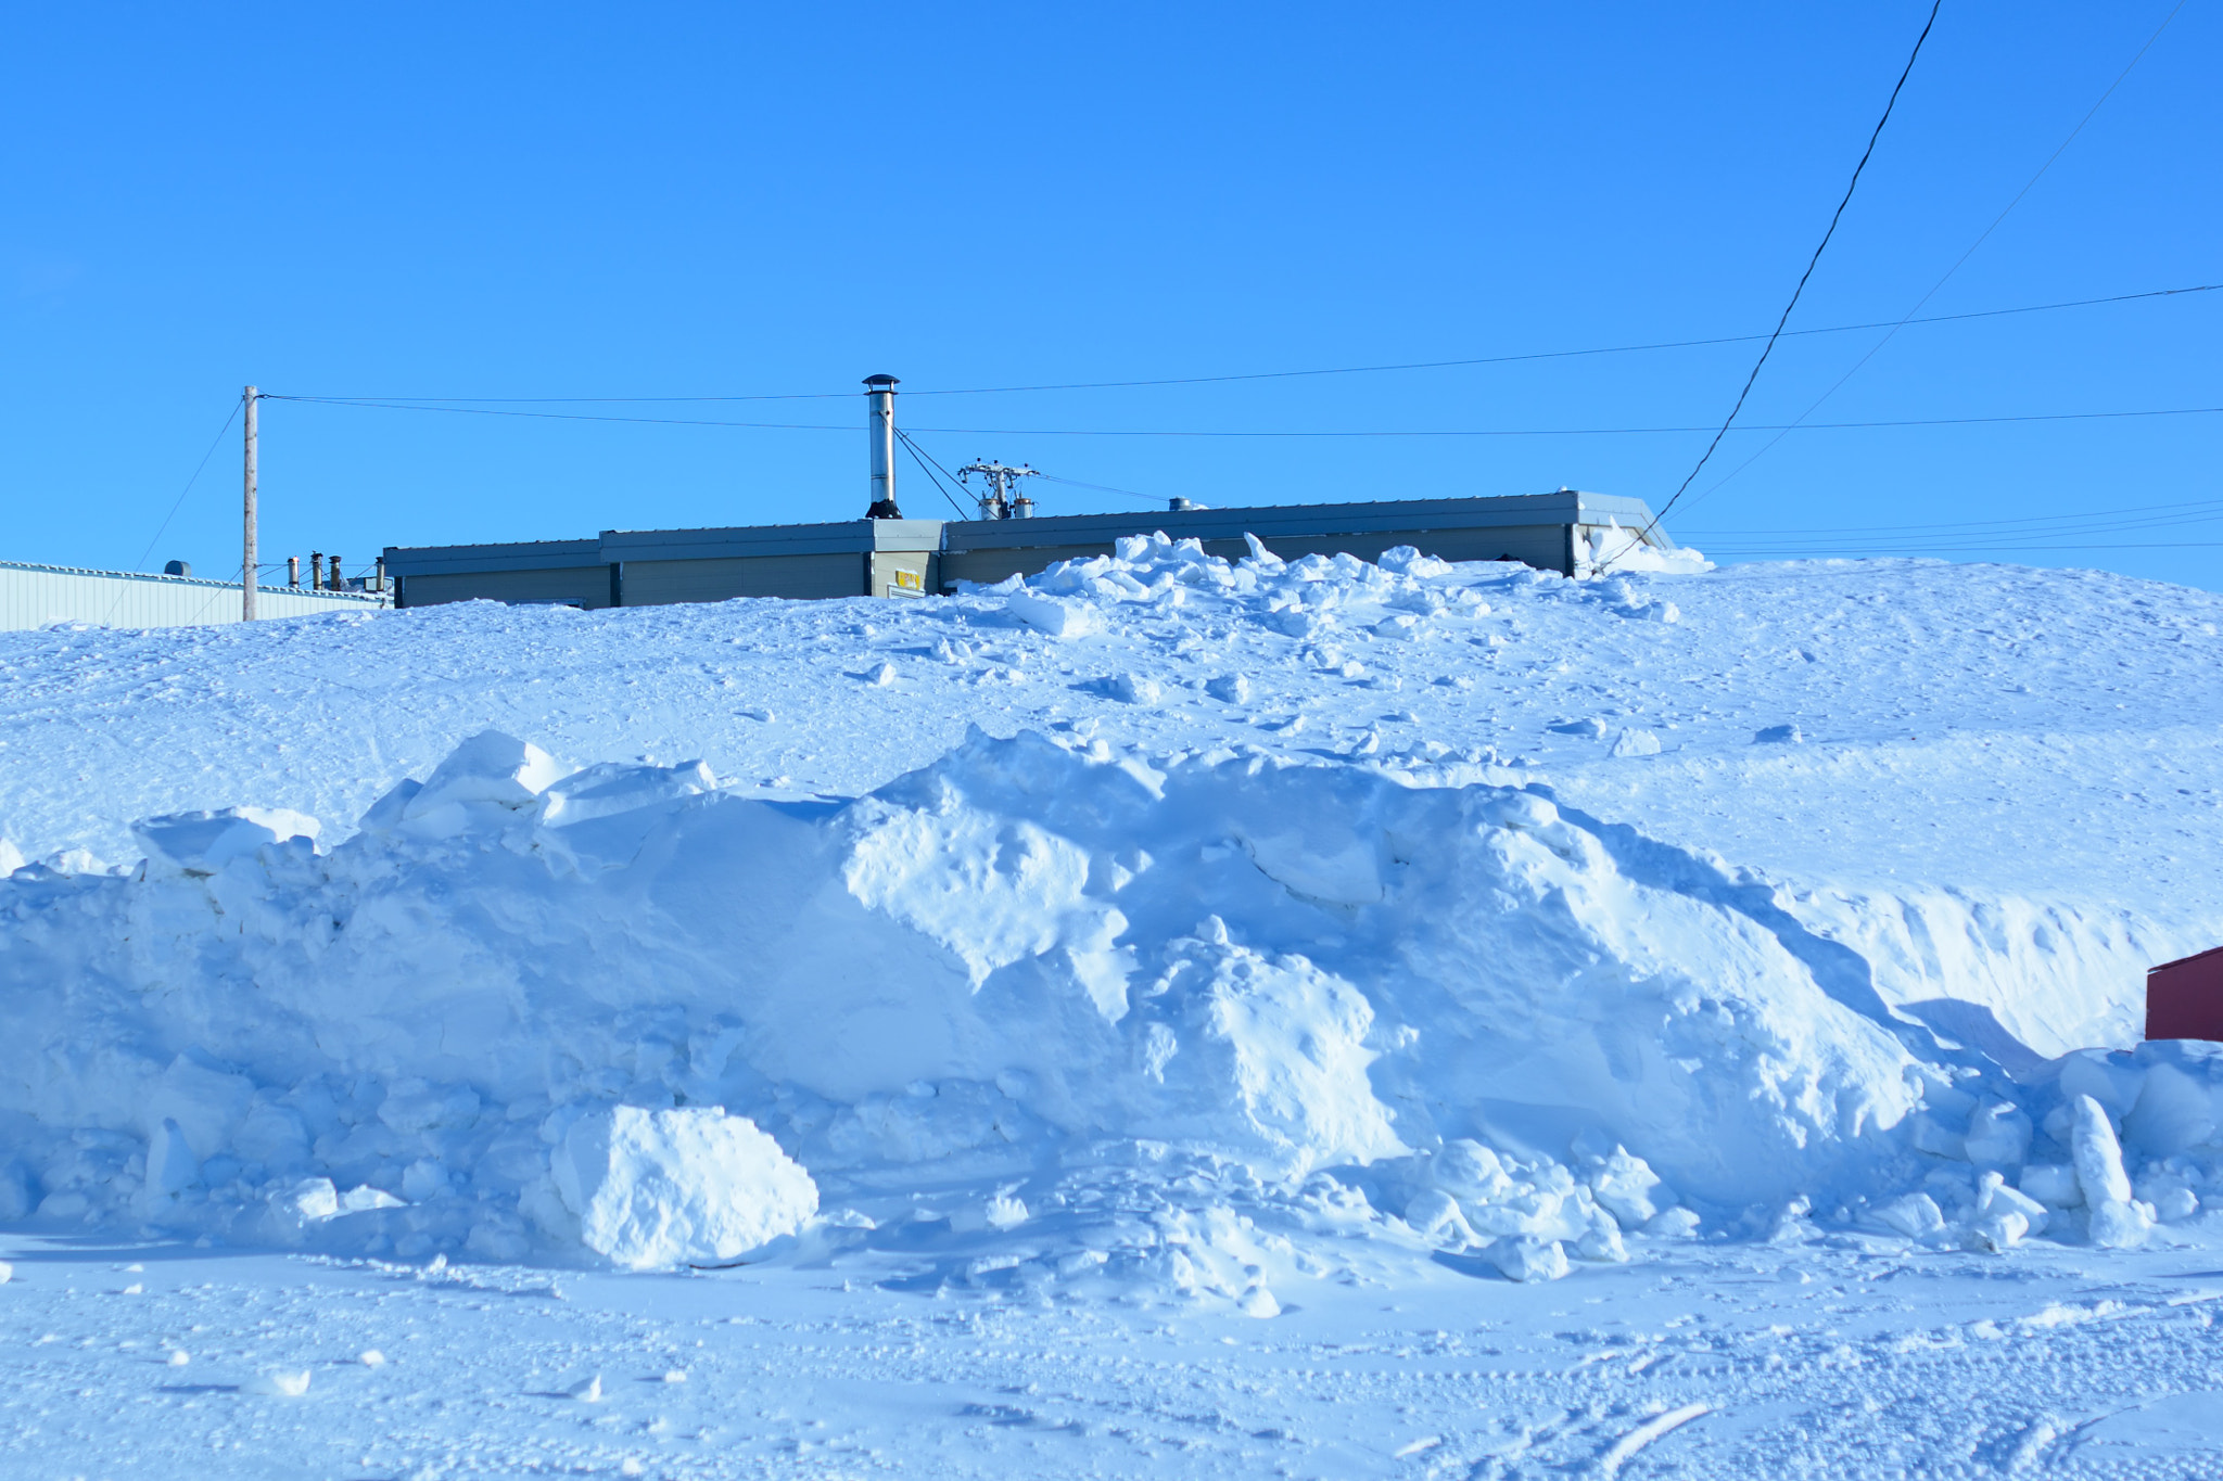
[[[1174,508],[1149,515],[1034,520],[843,520],[705,531],[602,531],[598,540],[476,546],[387,546],[396,606],[516,602],[662,606],[727,597],[923,597],[958,582],[1034,575],[1060,560],[1109,555],[1123,535],[1165,531],[1238,560],[1256,535],[1283,560],[1349,553],[1376,560],[1416,546],[1441,560],[1514,560],[1561,575],[1585,571],[1614,528],[1674,548],[1643,500],[1532,493],[1489,500],[1383,500]]]

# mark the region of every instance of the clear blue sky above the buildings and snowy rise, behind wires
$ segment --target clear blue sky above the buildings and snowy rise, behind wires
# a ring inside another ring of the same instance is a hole
[[[1947,0],[1798,326],[1898,320],[2174,0]],[[16,7],[0,51],[0,557],[238,564],[242,382],[645,426],[267,402],[265,560],[856,517],[858,380],[940,462],[1212,504],[1654,506],[1772,326],[1927,4]],[[2223,7],[2190,2],[1923,313],[2223,282]],[[2223,293],[1910,326],[1816,422],[2223,406]],[[1787,340],[1805,413],[1881,331]],[[925,431],[1009,429],[1009,431]],[[233,429],[236,435],[236,429]],[[2223,417],[1732,433],[1701,546],[2223,586]],[[914,515],[947,506],[905,466]],[[1932,528],[2192,504],[2205,522]],[[1043,513],[1149,508],[1071,486]],[[1890,528],[1876,526],[1923,526]],[[1845,533],[1858,531],[1858,533]],[[151,548],[149,548],[151,542]],[[2067,546],[2067,548],[2025,548]]]

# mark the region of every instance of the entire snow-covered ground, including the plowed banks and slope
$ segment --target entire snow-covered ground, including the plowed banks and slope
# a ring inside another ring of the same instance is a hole
[[[2123,1050],[2223,941],[2219,624],[1138,542],[4,635],[0,1425],[27,1474],[2212,1474],[2223,1059]]]

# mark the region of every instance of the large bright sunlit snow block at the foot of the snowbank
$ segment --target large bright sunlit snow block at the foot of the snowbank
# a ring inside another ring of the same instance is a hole
[[[731,1261],[818,1212],[809,1172],[718,1106],[589,1110],[554,1172],[580,1241],[634,1270]]]

